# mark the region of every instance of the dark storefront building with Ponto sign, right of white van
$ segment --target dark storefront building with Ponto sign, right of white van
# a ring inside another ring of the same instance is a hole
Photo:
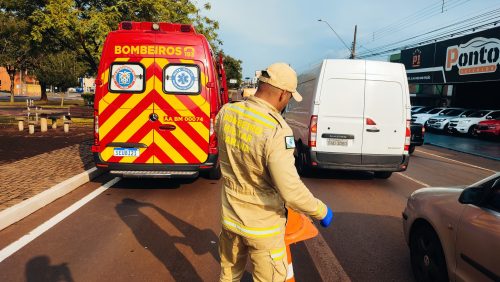
[[[500,109],[500,27],[391,56],[406,67],[412,104]]]

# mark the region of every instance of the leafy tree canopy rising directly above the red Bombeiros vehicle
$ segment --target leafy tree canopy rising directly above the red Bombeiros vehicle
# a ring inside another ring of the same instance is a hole
[[[203,9],[210,9],[210,5],[205,4]],[[214,49],[221,43],[218,22],[200,16],[200,9],[190,0],[48,0],[30,20],[35,41],[51,38],[64,49],[74,50],[92,73],[97,72],[106,35],[121,21],[194,24]]]

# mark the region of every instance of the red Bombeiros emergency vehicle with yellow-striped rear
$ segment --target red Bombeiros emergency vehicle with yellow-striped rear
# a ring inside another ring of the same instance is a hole
[[[98,168],[124,177],[219,179],[222,56],[192,25],[122,22],[104,42],[94,101]]]

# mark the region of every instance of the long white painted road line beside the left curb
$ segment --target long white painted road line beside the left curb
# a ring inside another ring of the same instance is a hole
[[[109,187],[113,186],[116,182],[120,181],[120,177],[115,177],[111,181],[107,182],[106,184],[102,185],[101,187],[97,188],[94,190],[92,193],[88,194],[87,196],[83,197],[81,200],[78,202],[74,203],[73,205],[69,206],[67,209],[63,210],[62,212],[58,213],[51,219],[47,220],[44,222],[42,225],[38,226],[37,228],[33,229],[31,232],[28,234],[24,235],[23,237],[19,238],[17,241],[11,243],[7,247],[3,248],[0,251],[0,262],[4,261],[6,258],[14,254],[15,252],[19,251],[21,248],[29,244],[31,241],[35,240],[38,236],[42,235],[45,233],[47,230],[50,228],[54,227],[56,224],[61,222],[63,219],[77,211],[79,208],[90,202],[92,199],[95,197],[99,196],[102,192],[106,191]]]

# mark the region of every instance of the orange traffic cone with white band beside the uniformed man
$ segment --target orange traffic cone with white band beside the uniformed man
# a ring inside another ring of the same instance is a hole
[[[288,220],[285,229],[286,255],[288,258],[286,281],[295,281],[290,244],[314,238],[316,235],[318,235],[318,229],[307,216],[288,209]]]

